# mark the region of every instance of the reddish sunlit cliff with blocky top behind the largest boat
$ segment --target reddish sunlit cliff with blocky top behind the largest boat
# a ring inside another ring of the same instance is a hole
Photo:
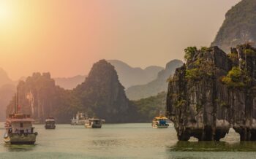
[[[49,116],[56,117],[60,123],[68,121],[69,119],[61,117],[62,113],[66,117],[72,117],[67,113],[69,111],[63,112],[63,108],[69,105],[64,104],[67,95],[67,90],[57,87],[49,73],[34,73],[26,81],[20,81],[18,84],[18,112],[29,114],[40,123]],[[7,106],[6,112],[7,115],[14,112],[14,98]]]

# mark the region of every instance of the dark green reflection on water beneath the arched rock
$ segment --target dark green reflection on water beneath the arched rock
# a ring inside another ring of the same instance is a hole
[[[256,142],[177,141],[175,145],[168,147],[168,149],[173,152],[255,152]]]

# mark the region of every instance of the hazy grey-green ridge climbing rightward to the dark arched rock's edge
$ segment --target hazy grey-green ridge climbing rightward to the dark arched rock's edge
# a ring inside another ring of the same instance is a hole
[[[138,100],[156,96],[160,92],[167,91],[167,79],[172,76],[176,68],[183,65],[180,60],[173,60],[166,64],[165,69],[159,71],[157,79],[148,82],[146,85],[135,85],[126,90],[127,97],[130,100]]]

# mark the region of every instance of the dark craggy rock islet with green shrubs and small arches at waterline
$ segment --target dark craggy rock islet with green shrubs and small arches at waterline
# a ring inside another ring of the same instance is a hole
[[[196,50],[176,69],[167,92],[167,116],[179,140],[224,138],[230,128],[256,140],[256,49]]]

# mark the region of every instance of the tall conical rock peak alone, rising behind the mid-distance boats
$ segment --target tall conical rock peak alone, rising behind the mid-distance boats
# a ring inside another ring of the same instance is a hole
[[[86,112],[103,118],[108,123],[136,120],[135,106],[126,97],[114,66],[105,60],[94,63],[85,82],[74,91]]]

